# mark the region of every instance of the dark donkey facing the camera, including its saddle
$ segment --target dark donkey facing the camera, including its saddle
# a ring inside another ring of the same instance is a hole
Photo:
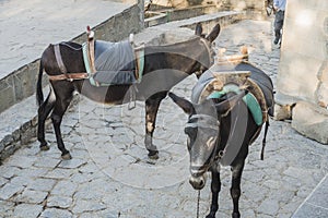
[[[265,146],[268,113],[273,114],[270,77],[248,62],[218,64],[200,76],[192,89],[192,102],[173,93],[168,95],[189,114],[185,133],[190,155],[190,184],[201,190],[206,184],[206,172],[212,173],[212,203],[207,217],[214,218],[219,209],[220,166],[231,166],[232,217],[241,217],[238,199],[248,146],[266,123]]]

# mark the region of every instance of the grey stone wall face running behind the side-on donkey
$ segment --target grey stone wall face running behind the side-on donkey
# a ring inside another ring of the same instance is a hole
[[[140,5],[134,4],[97,25],[94,28],[96,38],[117,41],[130,33],[138,33],[143,28],[141,10]],[[85,39],[85,34],[81,34],[72,40],[84,43]],[[39,60],[35,60],[0,80],[0,112],[34,94],[38,69]]]

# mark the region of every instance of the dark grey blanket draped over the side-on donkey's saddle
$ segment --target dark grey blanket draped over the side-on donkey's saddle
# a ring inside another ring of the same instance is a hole
[[[87,47],[86,44],[83,47]],[[87,49],[83,48],[84,62],[87,60]],[[86,70],[90,63],[84,63]],[[94,65],[96,72],[92,78],[101,85],[133,84],[136,78],[136,57],[128,40],[110,43],[95,40]],[[90,71],[90,70],[89,70]],[[90,75],[91,73],[87,72]]]

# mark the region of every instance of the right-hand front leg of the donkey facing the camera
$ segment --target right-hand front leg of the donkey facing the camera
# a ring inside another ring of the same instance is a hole
[[[230,190],[233,204],[234,204],[234,210],[232,214],[233,218],[239,218],[239,197],[241,197],[241,181],[242,181],[242,173],[245,166],[245,159],[239,159],[235,162],[235,165],[232,166],[232,186]]]

